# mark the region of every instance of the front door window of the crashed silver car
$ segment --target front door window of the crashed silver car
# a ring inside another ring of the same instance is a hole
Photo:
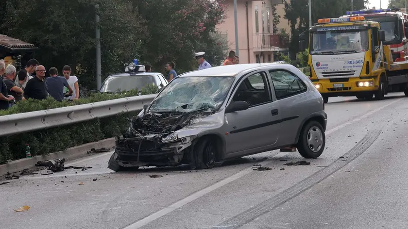
[[[258,72],[239,82],[233,101],[245,101],[251,106],[272,102],[266,72]]]

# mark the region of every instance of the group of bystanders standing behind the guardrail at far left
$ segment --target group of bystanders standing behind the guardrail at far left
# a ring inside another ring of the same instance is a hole
[[[78,78],[70,75],[69,65],[65,65],[62,71],[63,77],[58,76],[57,68],[51,67],[50,77],[45,78],[46,69],[36,59],[29,60],[18,73],[14,65],[6,67],[4,60],[0,60],[0,110],[8,109],[14,101],[28,98],[45,99],[51,96],[57,101],[78,99]],[[35,76],[32,75],[34,72]]]

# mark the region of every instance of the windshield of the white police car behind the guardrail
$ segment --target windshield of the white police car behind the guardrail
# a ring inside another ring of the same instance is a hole
[[[103,82],[100,92],[116,93],[135,89],[141,90],[146,85],[152,83],[154,83],[153,76],[146,75],[108,77],[105,82]]]

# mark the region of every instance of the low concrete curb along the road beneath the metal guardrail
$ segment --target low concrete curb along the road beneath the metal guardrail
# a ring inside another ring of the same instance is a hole
[[[21,171],[25,168],[34,168],[35,164],[38,161],[45,161],[45,160],[51,160],[55,158],[65,158],[66,162],[67,160],[75,160],[78,158],[83,158],[86,156],[94,155],[94,154],[88,154],[88,151],[91,150],[91,148],[111,148],[115,146],[115,138],[107,138],[98,142],[91,142],[87,143],[84,145],[76,146],[76,147],[71,147],[63,151],[55,152],[55,153],[50,153],[46,155],[39,155],[39,156],[34,156],[32,158],[23,158],[19,159],[16,161],[9,162],[7,164],[2,164],[0,165],[0,176],[3,174],[6,174],[7,172],[14,173]],[[107,163],[107,162],[106,162]]]

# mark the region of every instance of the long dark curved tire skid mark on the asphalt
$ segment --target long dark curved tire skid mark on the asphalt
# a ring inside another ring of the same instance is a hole
[[[298,184],[290,187],[286,191],[281,192],[280,194],[273,196],[272,198],[258,204],[257,206],[250,208],[249,210],[240,213],[226,221],[224,221],[219,227],[229,225],[227,229],[237,229],[245,224],[255,220],[259,216],[268,213],[272,209],[282,205],[283,203],[289,201],[290,199],[300,195],[307,189],[311,188],[313,185],[319,183],[320,181],[324,180],[346,164],[349,164],[351,161],[356,159],[359,155],[365,152],[371,145],[373,145],[374,141],[378,138],[381,131],[370,131],[367,133],[360,142],[357,143],[355,147],[353,147],[350,151],[343,155],[345,159],[338,159],[328,167],[325,167],[318,172],[314,173],[313,175],[309,176],[305,180],[302,180]]]

